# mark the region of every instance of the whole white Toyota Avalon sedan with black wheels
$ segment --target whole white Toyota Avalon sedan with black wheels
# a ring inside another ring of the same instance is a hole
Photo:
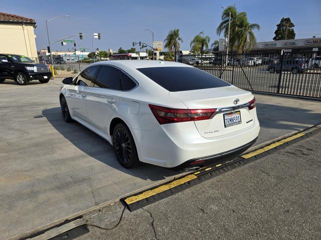
[[[240,154],[260,129],[251,92],[183,63],[99,61],[63,83],[64,120],[105,138],[127,168],[197,169]]]

